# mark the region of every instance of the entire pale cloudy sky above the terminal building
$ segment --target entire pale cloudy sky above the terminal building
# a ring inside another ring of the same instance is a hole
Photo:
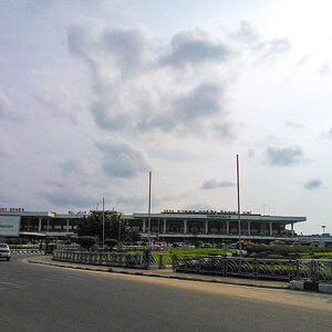
[[[326,0],[1,0],[0,207],[237,210],[332,232]]]

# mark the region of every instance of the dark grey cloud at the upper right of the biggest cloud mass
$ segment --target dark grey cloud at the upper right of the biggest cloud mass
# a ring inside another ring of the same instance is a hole
[[[214,42],[203,31],[180,32],[173,37],[172,51],[160,59],[164,65],[183,68],[206,62],[224,62],[231,53],[221,42]]]

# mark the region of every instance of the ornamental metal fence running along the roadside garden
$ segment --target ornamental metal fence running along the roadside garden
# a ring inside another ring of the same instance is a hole
[[[53,259],[87,264],[139,269],[173,268],[177,272],[206,273],[222,277],[274,280],[305,279],[313,282],[332,282],[332,260],[257,259],[147,252],[125,253],[66,250],[55,250]]]

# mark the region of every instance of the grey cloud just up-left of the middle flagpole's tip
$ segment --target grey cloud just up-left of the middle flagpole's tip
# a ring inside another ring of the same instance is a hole
[[[125,142],[95,142],[103,153],[103,168],[107,176],[132,178],[151,168],[144,152]]]

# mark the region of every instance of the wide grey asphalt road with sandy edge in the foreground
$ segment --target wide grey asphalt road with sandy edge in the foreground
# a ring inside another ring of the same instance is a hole
[[[62,269],[12,256],[0,261],[0,331],[332,331],[332,295],[314,295],[305,308],[311,294],[292,303],[293,293]]]

